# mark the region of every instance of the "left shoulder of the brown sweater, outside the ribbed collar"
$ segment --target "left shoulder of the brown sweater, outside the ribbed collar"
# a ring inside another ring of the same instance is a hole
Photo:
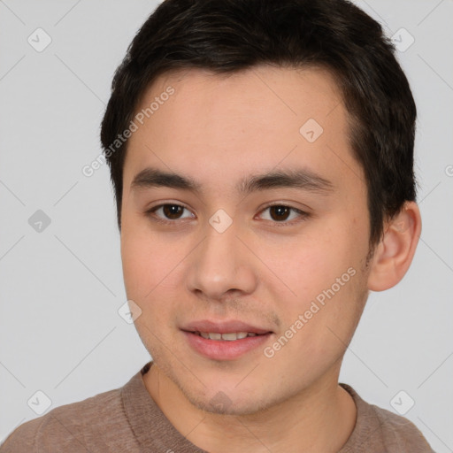
[[[110,451],[108,435],[117,438],[129,431],[121,400],[121,388],[52,409],[16,428],[0,446],[0,453],[65,451],[93,448]],[[130,438],[130,434],[127,436]]]

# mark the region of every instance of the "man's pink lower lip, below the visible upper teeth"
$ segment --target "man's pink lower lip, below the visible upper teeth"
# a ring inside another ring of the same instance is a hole
[[[193,332],[182,331],[188,339],[188,344],[204,357],[214,360],[233,360],[257,349],[269,340],[272,333],[247,336],[241,340],[209,340]]]

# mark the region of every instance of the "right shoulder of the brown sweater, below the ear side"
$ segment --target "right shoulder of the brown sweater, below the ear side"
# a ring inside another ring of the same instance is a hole
[[[388,453],[434,453],[425,437],[409,419],[382,409],[374,404],[366,403],[357,392],[347,384],[341,384],[354,399],[357,406],[357,421],[354,438],[367,438],[372,445]],[[369,449],[366,442],[364,451]],[[376,451],[378,451],[376,449]],[[381,450],[379,450],[381,451]]]

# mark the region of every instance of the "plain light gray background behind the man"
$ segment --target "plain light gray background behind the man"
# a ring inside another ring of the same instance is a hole
[[[415,40],[398,56],[418,104],[423,232],[403,281],[370,296],[341,381],[389,411],[407,410],[413,399],[405,417],[434,450],[449,452],[453,2],[356,3],[396,33],[401,49]],[[118,313],[126,295],[108,167],[91,178],[81,168],[101,151],[112,73],[156,5],[0,1],[0,441],[38,416],[27,404],[45,403],[36,391],[48,395],[50,411],[119,388],[150,359]],[[52,40],[41,52],[27,42],[45,42],[38,27]],[[50,218],[41,232],[28,222],[38,210]]]

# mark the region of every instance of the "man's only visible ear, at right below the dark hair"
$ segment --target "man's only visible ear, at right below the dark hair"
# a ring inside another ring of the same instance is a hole
[[[421,233],[421,217],[415,202],[406,202],[393,219],[388,220],[385,233],[377,245],[370,273],[368,289],[383,291],[403,279],[411,265]]]

